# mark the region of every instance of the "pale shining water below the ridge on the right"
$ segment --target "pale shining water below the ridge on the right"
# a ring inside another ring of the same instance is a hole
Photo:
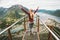
[[[51,18],[60,23],[60,17],[49,15],[46,13],[41,13],[41,12],[38,12],[37,14],[40,15],[40,17],[43,19],[43,21],[46,21],[46,19]]]

